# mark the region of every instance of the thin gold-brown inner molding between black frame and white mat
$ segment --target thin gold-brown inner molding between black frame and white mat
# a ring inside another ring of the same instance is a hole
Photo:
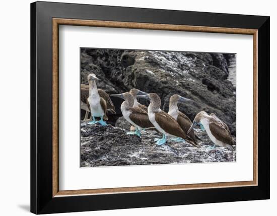
[[[219,182],[204,184],[181,184],[181,185],[161,185],[161,186],[142,186],[142,187],[123,187],[123,188],[103,188],[87,190],[59,190],[58,185],[58,41],[59,25],[91,26],[107,28],[133,28],[133,29],[152,29],[152,30],[170,30],[170,31],[192,31],[192,32],[211,32],[211,33],[229,33],[229,34],[249,34],[253,35],[253,181],[239,182]],[[186,189],[204,189],[204,188],[223,188],[223,187],[243,187],[256,186],[258,179],[258,157],[257,157],[257,126],[258,126],[258,83],[257,83],[257,29],[240,28],[219,28],[205,26],[186,26],[186,25],[168,25],[152,23],[133,23],[133,22],[114,22],[98,20],[78,20],[78,19],[52,19],[52,196],[72,196],[72,195],[97,195],[110,193],[131,193],[131,192],[150,192],[165,190],[186,190]]]

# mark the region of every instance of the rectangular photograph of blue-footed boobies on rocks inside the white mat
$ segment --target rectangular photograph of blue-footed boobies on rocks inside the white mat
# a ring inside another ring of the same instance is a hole
[[[236,53],[81,47],[80,108],[81,168],[235,162]]]

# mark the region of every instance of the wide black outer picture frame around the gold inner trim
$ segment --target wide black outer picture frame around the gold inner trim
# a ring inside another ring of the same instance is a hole
[[[258,185],[52,197],[52,18],[258,29]],[[269,17],[81,4],[31,4],[31,212],[269,199]]]

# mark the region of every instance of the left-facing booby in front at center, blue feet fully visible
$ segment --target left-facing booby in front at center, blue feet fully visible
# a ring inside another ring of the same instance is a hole
[[[186,139],[186,134],[179,126],[178,122],[169,114],[165,113],[160,109],[161,99],[158,96],[158,94],[150,93],[146,95],[140,95],[137,97],[142,97],[150,100],[150,105],[148,106],[149,120],[155,126],[155,128],[163,134],[162,139],[155,139],[157,145],[165,144],[167,136],[172,136],[175,138],[181,137],[183,139]],[[193,142],[189,143],[198,147]]]

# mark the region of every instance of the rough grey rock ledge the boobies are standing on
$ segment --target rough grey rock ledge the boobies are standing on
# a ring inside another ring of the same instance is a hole
[[[209,163],[235,161],[235,152],[225,148],[209,149],[211,141],[204,132],[197,135],[202,146],[168,140],[157,146],[156,133],[142,132],[142,138],[126,135],[126,130],[111,125],[89,125],[81,122],[81,167]]]

